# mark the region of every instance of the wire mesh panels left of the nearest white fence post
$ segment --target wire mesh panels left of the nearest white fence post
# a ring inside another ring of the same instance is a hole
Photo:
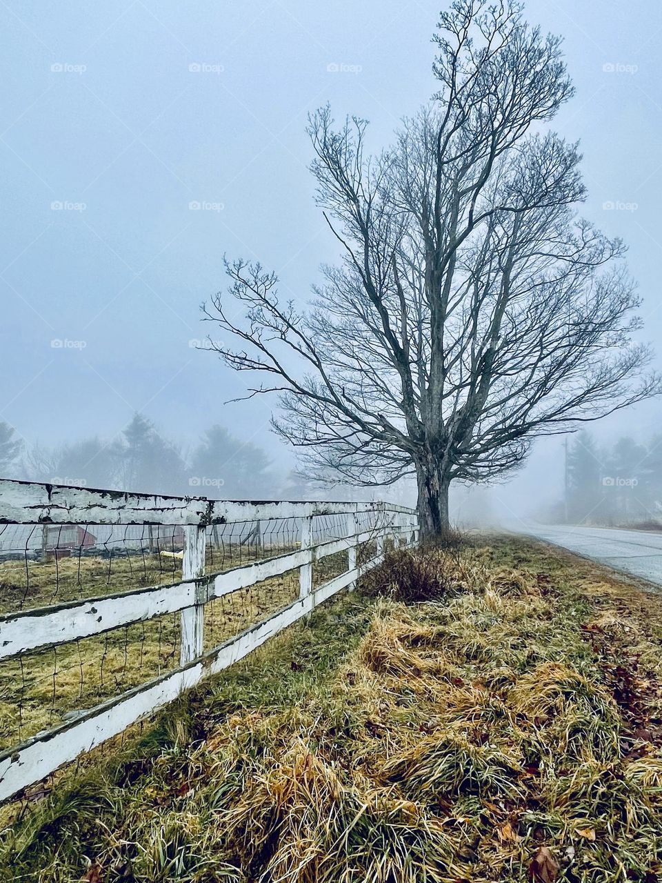
[[[176,583],[183,555],[178,526],[2,525],[0,615]],[[170,614],[0,660],[0,750],[177,668],[179,648]]]

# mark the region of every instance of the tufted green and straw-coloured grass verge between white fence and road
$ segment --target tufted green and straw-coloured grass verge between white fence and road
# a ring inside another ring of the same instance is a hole
[[[661,649],[662,597],[560,550],[421,553],[63,778],[0,879],[653,883]]]

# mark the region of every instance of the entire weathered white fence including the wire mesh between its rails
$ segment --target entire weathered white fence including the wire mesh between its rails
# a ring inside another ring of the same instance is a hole
[[[66,542],[57,540],[61,531],[53,525],[65,525]],[[129,525],[139,529],[132,527],[127,539]],[[97,540],[102,528],[105,539]],[[170,549],[162,547],[164,536],[172,540]],[[6,709],[11,717],[12,703],[18,704],[18,723],[6,728],[5,742],[14,731],[19,735],[0,751],[0,801],[123,732],[336,592],[353,587],[380,562],[387,544],[410,545],[417,539],[415,512],[385,502],[217,501],[0,479],[0,713]],[[84,579],[94,584],[100,574],[106,590],[116,577],[122,591],[89,594]],[[164,574],[179,578],[155,585],[154,576]],[[149,585],[139,585],[146,580]],[[243,608],[234,603],[249,591],[256,596],[244,600]],[[58,600],[72,592],[85,597]],[[30,606],[33,599],[36,606]],[[219,626],[214,610],[225,602],[232,606],[222,608]],[[178,616],[178,630],[164,629],[169,615]],[[146,623],[159,625],[147,635]],[[129,638],[132,629],[142,630],[139,638]],[[168,653],[162,653],[164,634],[171,642]],[[212,645],[206,649],[209,637]],[[139,683],[107,698],[109,646],[120,656],[124,652],[124,669],[117,669],[123,675],[131,668],[132,641],[138,642],[139,666],[132,676]],[[62,647],[69,648],[68,655]],[[54,654],[52,670],[44,661],[49,653]],[[70,661],[65,665],[63,658]],[[99,683],[86,691],[86,672],[97,658]],[[11,664],[19,668],[8,668]],[[79,683],[71,677],[78,667]],[[35,674],[26,675],[28,668]],[[50,692],[48,719],[60,720],[26,733],[44,718],[39,707],[44,683]],[[81,708],[76,699],[84,695],[102,701]],[[67,700],[72,707],[64,710]]]

